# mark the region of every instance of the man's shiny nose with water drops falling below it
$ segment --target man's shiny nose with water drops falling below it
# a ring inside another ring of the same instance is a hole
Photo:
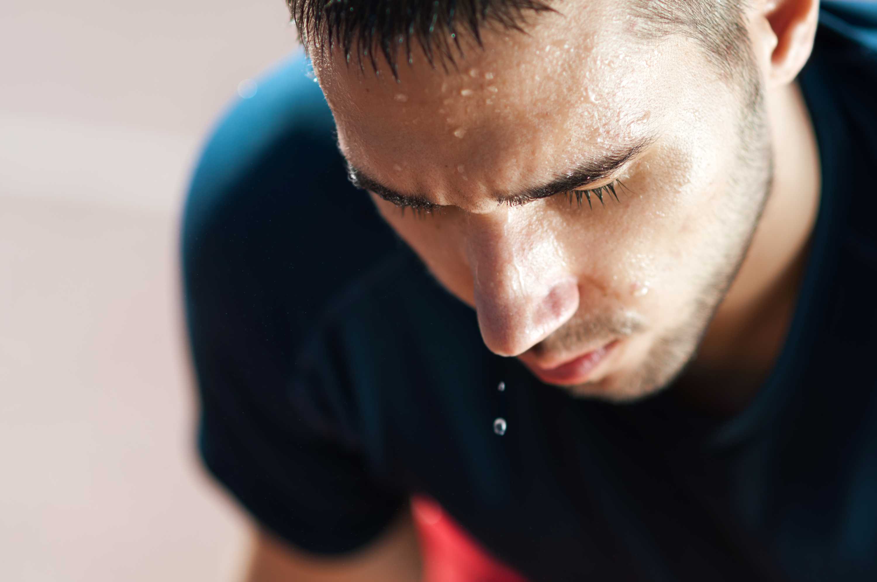
[[[481,337],[490,351],[517,356],[566,323],[579,308],[578,281],[550,233],[470,231],[468,254]]]

